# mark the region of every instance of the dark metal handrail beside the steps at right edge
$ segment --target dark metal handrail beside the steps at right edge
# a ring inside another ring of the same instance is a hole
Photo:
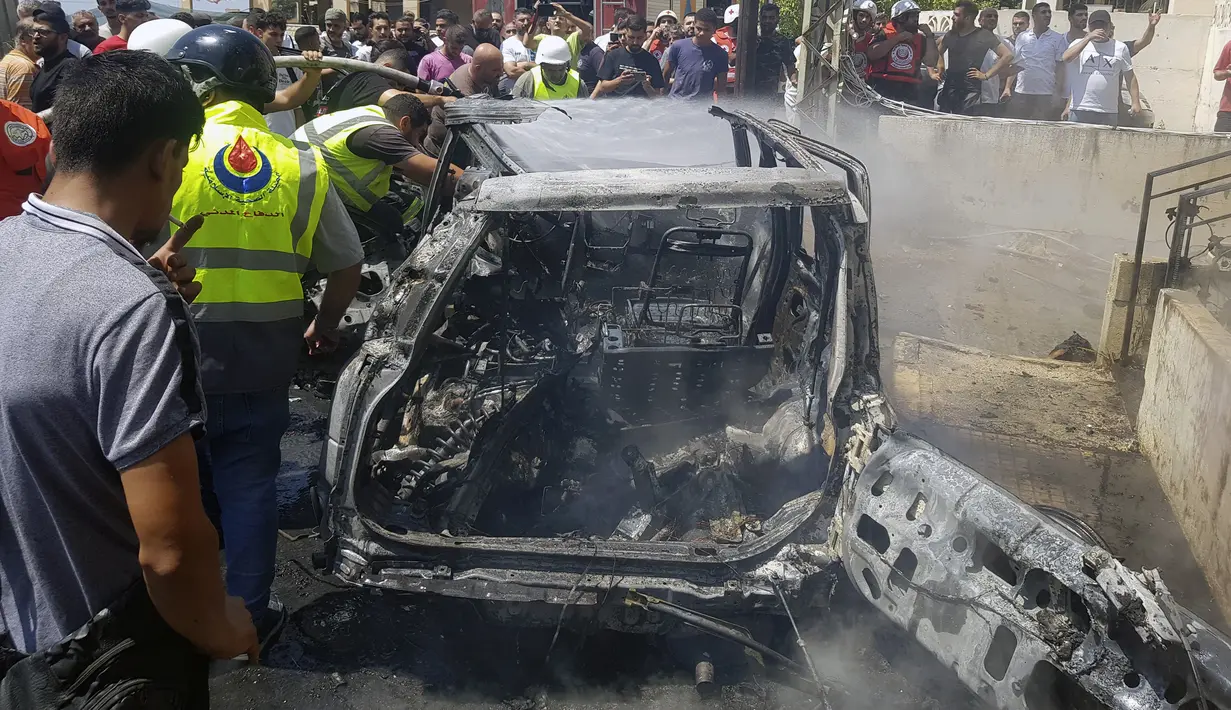
[[[1165,175],[1172,175],[1199,165],[1222,160],[1225,158],[1231,158],[1231,150],[1225,150],[1206,158],[1189,160],[1188,162],[1181,162],[1179,165],[1172,165],[1171,167],[1163,167],[1146,174],[1146,186],[1141,193],[1141,219],[1137,223],[1137,245],[1133,257],[1133,284],[1129,288],[1129,308],[1124,319],[1124,340],[1120,342],[1119,359],[1121,363],[1128,362],[1129,352],[1133,348],[1133,317],[1136,314],[1137,293],[1141,288],[1141,258],[1146,249],[1146,229],[1150,225],[1151,203],[1161,197],[1169,197],[1172,194],[1181,196],[1176,208],[1176,219],[1171,225],[1172,240],[1167,256],[1167,276],[1163,279],[1167,288],[1173,288],[1178,283],[1181,267],[1188,258],[1193,228],[1231,219],[1231,213],[1211,219],[1195,219],[1199,217],[1198,199],[1231,189],[1231,182],[1225,182],[1231,180],[1231,172],[1189,182],[1157,194],[1153,192],[1155,180]]]

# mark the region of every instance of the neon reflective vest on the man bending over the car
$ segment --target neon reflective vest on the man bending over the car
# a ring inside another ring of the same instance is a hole
[[[371,158],[359,158],[346,145],[352,133],[368,126],[393,127],[379,106],[359,106],[327,113],[295,132],[298,140],[315,145],[329,165],[329,177],[342,201],[362,212],[372,209],[389,192],[393,166]]]

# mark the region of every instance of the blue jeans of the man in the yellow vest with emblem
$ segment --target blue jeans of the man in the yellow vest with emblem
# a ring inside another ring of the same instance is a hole
[[[277,477],[291,423],[288,388],[207,395],[197,442],[201,495],[227,550],[227,591],[252,620],[265,613],[278,546]]]

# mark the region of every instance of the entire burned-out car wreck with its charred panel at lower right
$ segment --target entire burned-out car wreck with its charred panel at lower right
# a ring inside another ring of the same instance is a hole
[[[519,624],[708,626],[805,680],[714,620],[849,578],[991,706],[1231,708],[1231,645],[1157,573],[897,429],[858,160],[718,107],[718,165],[519,149],[565,112],[448,107],[457,199],[439,170],[337,379],[331,572]]]

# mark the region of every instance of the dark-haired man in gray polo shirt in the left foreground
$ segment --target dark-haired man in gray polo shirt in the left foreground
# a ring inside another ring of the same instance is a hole
[[[204,114],[144,52],[59,91],[55,177],[0,223],[0,706],[198,706],[208,656],[257,653],[256,629],[198,495],[192,273],[138,247]]]

